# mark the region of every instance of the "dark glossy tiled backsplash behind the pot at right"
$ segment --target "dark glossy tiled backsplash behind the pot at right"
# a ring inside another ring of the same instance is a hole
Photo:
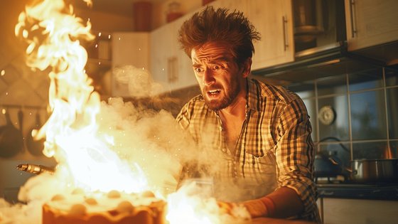
[[[362,70],[288,88],[306,104],[319,151],[337,153],[344,164],[398,157],[397,68]],[[334,113],[323,114],[326,107]]]

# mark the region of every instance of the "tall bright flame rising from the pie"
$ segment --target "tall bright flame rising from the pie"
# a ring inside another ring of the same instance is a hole
[[[28,42],[27,64],[39,70],[50,68],[51,116],[36,138],[46,138],[43,153],[70,171],[75,186],[90,191],[143,191],[147,181],[139,166],[119,159],[109,149],[112,137],[98,133],[100,97],[85,73],[87,51],[79,41],[95,38],[90,28],[90,21],[84,25],[63,0],[27,6],[18,18],[16,35]]]

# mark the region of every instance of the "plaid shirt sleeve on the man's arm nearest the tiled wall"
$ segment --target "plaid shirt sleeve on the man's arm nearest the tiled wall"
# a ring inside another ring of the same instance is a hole
[[[277,125],[276,164],[279,187],[296,191],[304,206],[303,216],[312,216],[318,197],[313,181],[314,146],[311,123],[303,101],[289,102]]]

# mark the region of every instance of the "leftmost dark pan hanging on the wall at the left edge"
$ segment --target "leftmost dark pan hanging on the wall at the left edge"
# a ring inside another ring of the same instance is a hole
[[[9,158],[23,149],[21,132],[14,127],[10,114],[6,110],[6,125],[0,127],[0,156]]]

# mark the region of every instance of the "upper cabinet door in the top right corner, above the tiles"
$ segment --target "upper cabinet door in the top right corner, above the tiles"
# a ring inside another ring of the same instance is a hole
[[[345,0],[348,50],[398,40],[397,0]]]

